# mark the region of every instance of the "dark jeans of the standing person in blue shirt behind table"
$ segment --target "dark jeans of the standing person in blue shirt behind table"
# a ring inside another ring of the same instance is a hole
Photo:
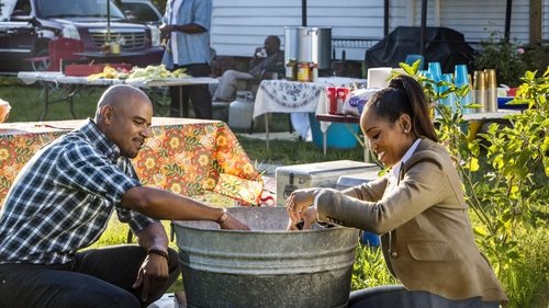
[[[173,70],[178,68],[187,68],[187,73],[192,77],[208,77],[211,73],[211,69],[208,64],[175,66]],[[182,101],[180,101],[180,93]],[[210,94],[208,84],[170,87],[170,116],[186,116],[187,111],[181,109],[187,109],[187,102],[190,100],[197,118],[212,118],[212,94]],[[180,102],[183,102],[182,106],[180,105]]]

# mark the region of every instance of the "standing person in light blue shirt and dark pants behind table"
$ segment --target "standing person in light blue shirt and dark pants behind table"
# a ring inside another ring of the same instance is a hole
[[[192,77],[210,76],[211,0],[169,0],[160,26],[167,46],[163,64],[171,70],[186,68]],[[170,115],[179,115],[179,95],[190,99],[197,118],[212,118],[212,95],[208,85],[170,88]]]

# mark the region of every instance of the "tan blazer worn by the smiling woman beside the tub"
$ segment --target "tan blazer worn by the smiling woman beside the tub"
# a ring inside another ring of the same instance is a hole
[[[385,193],[391,184],[397,186]],[[508,300],[475,246],[458,172],[440,145],[423,139],[397,183],[384,175],[344,192],[318,193],[318,220],[381,235],[389,270],[407,289]]]

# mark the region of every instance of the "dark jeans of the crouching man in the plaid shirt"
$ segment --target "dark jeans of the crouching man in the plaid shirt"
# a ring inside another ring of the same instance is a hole
[[[141,287],[132,285],[145,256],[138,246],[115,246],[80,252],[61,265],[0,264],[0,307],[146,307],[180,272],[177,252],[170,249],[168,281],[142,303]]]

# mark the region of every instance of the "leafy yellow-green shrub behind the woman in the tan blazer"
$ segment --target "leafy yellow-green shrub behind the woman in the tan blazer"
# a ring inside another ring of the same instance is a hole
[[[544,288],[547,293],[548,284],[544,258],[548,255],[549,67],[541,76],[531,71],[524,75],[513,103],[527,104],[528,109],[506,116],[509,126],[491,124],[488,132],[479,134],[482,140],[468,138],[463,106],[452,111],[436,104],[450,93],[459,102],[470,91],[469,85],[436,83],[418,75],[415,64],[401,67],[419,81],[429,103],[435,103],[439,115],[437,133],[458,162],[481,251],[490,259],[512,303],[517,303],[514,307],[529,307],[528,303],[544,295]],[[437,93],[433,85],[448,90]],[[528,236],[538,231],[546,239]],[[541,255],[541,261],[529,264],[531,255]]]

